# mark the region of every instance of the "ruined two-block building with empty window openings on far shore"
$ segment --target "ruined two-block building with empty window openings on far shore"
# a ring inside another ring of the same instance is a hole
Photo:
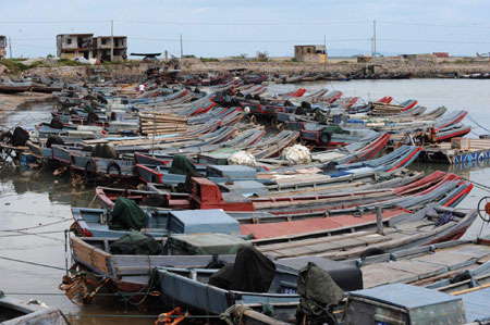
[[[75,59],[76,57],[83,57],[87,60],[122,61],[127,58],[127,37],[61,34],[57,36],[57,50],[59,58]]]

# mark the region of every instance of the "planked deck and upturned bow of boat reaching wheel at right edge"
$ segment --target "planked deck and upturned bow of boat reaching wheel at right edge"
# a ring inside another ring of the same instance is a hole
[[[391,212],[393,213],[393,212]],[[449,215],[452,215],[449,217]],[[388,215],[387,215],[388,216]],[[286,259],[305,255],[346,260],[360,257],[366,249],[377,247],[387,252],[461,238],[477,216],[474,210],[461,210],[429,204],[415,214],[400,213],[390,217],[390,226],[383,235],[372,228],[376,222],[352,226],[346,223],[331,230],[315,230],[297,235],[254,240],[254,245],[267,255]],[[371,216],[373,220],[373,216]],[[448,220],[450,220],[446,222]],[[340,220],[340,218],[339,218]],[[441,221],[439,221],[441,220]],[[434,226],[437,223],[440,226]],[[443,223],[445,222],[445,223]],[[248,225],[256,226],[256,225]],[[348,234],[354,228],[356,233]],[[371,227],[371,230],[369,229]],[[363,232],[364,230],[364,232]],[[270,227],[273,232],[273,227]],[[346,234],[331,236],[334,234]],[[273,233],[272,233],[273,236]]]

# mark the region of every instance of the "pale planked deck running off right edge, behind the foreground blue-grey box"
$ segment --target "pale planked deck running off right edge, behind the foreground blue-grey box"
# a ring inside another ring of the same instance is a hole
[[[454,278],[461,273],[468,271],[475,279],[490,276],[490,246],[477,240],[452,240],[344,263],[360,267],[364,288],[405,283],[451,292],[462,289],[464,284],[458,283],[470,279]],[[450,290],[451,284],[454,286]]]

